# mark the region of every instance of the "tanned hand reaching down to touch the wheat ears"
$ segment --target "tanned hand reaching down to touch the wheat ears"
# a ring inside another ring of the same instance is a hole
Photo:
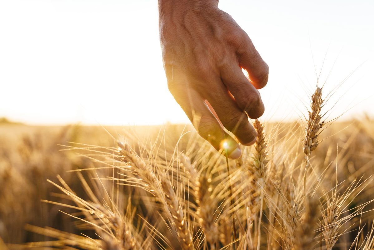
[[[264,112],[257,89],[266,85],[269,67],[245,31],[217,5],[217,0],[159,0],[160,40],[175,100],[204,139],[236,159],[239,144],[222,125],[241,144],[254,143],[248,116]]]

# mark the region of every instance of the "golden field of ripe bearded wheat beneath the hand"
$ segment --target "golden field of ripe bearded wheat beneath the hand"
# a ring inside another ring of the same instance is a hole
[[[374,124],[253,121],[237,160],[190,126],[0,125],[0,249],[374,249]]]

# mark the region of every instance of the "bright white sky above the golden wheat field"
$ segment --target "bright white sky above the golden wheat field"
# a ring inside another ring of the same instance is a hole
[[[316,83],[331,118],[374,115],[373,0],[220,0],[269,64],[264,118],[297,118]],[[0,117],[30,124],[188,121],[168,92],[157,0],[1,0]],[[314,64],[313,64],[313,58]]]

